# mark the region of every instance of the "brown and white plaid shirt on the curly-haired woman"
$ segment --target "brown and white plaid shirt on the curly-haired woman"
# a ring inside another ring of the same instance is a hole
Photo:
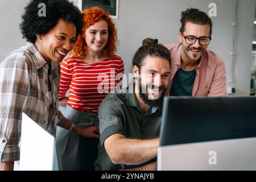
[[[63,115],[58,109],[60,67],[53,61],[51,64],[49,68],[31,43],[11,52],[0,64],[1,162],[19,160],[22,112],[55,135],[56,125]],[[51,88],[48,88],[48,80]],[[49,97],[49,89],[52,97]]]

